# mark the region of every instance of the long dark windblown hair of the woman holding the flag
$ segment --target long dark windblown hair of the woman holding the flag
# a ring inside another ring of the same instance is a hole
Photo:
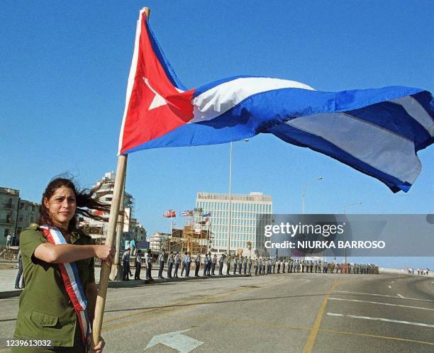
[[[52,225],[50,213],[48,212],[48,208],[45,207],[44,200],[45,199],[50,200],[51,196],[55,193],[55,191],[61,188],[62,186],[65,186],[68,189],[74,191],[75,200],[77,203],[75,215],[71,220],[69,220],[69,225],[68,225],[69,231],[77,229],[78,215],[84,215],[84,217],[92,218],[94,220],[101,220],[101,221],[107,220],[107,218],[104,218],[102,215],[92,213],[92,211],[100,211],[104,214],[104,212],[110,211],[110,204],[102,203],[97,198],[94,197],[96,191],[99,190],[98,186],[91,190],[89,189],[79,190],[77,189],[77,186],[75,186],[72,178],[55,177],[50,181],[50,183],[47,186],[47,189],[45,189],[45,192],[43,194],[42,201],[40,203],[40,208],[39,208],[40,216],[38,220],[38,225]]]

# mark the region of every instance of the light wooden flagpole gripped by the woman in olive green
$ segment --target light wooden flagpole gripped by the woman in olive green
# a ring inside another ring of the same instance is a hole
[[[145,15],[150,16],[150,9],[144,9]],[[113,242],[116,238],[116,223],[119,215],[119,207],[121,206],[121,198],[123,196],[124,184],[126,179],[126,165],[128,155],[120,155],[118,157],[118,167],[116,168],[116,177],[113,190],[113,200],[111,201],[111,209],[109,216],[109,228],[106,235],[106,245],[113,247]],[[104,308],[106,306],[107,286],[109,285],[111,267],[105,263],[101,264],[101,274],[99,277],[98,296],[96,297],[95,318],[92,327],[92,340],[94,345],[101,340],[101,327],[104,316]]]

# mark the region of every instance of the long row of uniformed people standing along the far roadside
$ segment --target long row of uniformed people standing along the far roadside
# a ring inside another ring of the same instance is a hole
[[[123,280],[128,281],[129,276],[133,276],[130,269],[130,249],[123,253]],[[134,279],[140,279],[140,270],[142,262],[144,261],[146,267],[146,278],[152,278],[152,263],[153,257],[151,250],[145,253],[144,259],[142,253],[138,250],[135,262]],[[167,264],[167,266],[166,266]],[[169,279],[179,278],[178,272],[181,267],[180,276],[189,277],[190,269],[194,264],[194,276],[200,276],[202,268],[202,276],[216,276],[216,269],[218,275],[238,274],[245,276],[260,276],[264,274],[280,274],[280,273],[331,273],[331,274],[374,274],[377,273],[377,267],[373,264],[338,264],[335,262],[323,262],[322,260],[308,260],[308,259],[291,259],[283,257],[255,257],[252,259],[247,256],[226,256],[226,254],[211,255],[211,252],[206,253],[204,256],[196,254],[191,256],[190,252],[169,252],[166,254],[162,250],[157,257],[158,278],[164,279],[164,271]]]

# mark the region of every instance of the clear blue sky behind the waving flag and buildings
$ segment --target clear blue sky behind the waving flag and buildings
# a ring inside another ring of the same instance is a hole
[[[138,11],[189,88],[239,74],[322,91],[434,91],[433,1],[2,1],[0,186],[40,201],[62,172],[92,186],[116,170]],[[147,150],[128,158],[127,190],[149,233],[196,192],[228,192],[229,146]],[[408,194],[268,135],[233,146],[233,192],[273,197],[275,213],[433,213],[433,147]],[[181,220],[179,220],[181,222]],[[414,266],[423,266],[415,264]],[[434,267],[434,266],[433,266]]]

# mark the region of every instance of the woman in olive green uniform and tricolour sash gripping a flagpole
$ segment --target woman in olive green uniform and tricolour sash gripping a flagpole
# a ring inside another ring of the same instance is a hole
[[[115,253],[112,247],[93,245],[91,237],[77,228],[77,215],[104,220],[92,210],[109,210],[93,195],[94,191],[77,191],[69,179],[53,179],[43,194],[38,225],[21,232],[26,288],[14,339],[52,347],[16,347],[13,352],[88,351],[97,293],[94,257],[111,266]],[[101,338],[91,352],[102,352],[103,347]]]

